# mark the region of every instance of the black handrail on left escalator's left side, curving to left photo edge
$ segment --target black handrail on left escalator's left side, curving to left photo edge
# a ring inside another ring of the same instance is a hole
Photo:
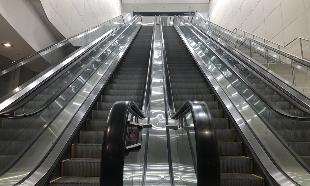
[[[135,18],[135,20],[138,19]],[[135,21],[134,20],[134,21]],[[133,21],[133,22],[134,22]],[[133,23],[132,22],[132,23]],[[131,23],[131,24],[132,24]],[[41,106],[39,106],[38,108],[36,108],[35,110],[29,112],[29,113],[24,113],[21,115],[12,115],[12,114],[8,114],[13,112],[14,110],[20,108],[20,105],[15,105],[13,107],[11,107],[10,109],[1,112],[0,113],[0,118],[6,118],[6,119],[15,119],[15,118],[26,118],[29,116],[33,116],[41,111],[43,111],[45,108],[47,108],[50,104],[52,104],[75,80],[77,80],[79,78],[79,76],[89,67],[91,66],[91,64],[105,51],[105,49],[107,49],[108,47],[110,47],[113,42],[119,38],[120,35],[122,35],[129,27],[127,27],[126,29],[124,29],[121,33],[119,33],[117,35],[117,37],[115,37],[112,42],[110,42],[106,47],[104,47],[104,49],[102,51],[100,51],[100,53],[98,53],[90,62],[88,62],[78,73],[76,73],[73,78],[70,79],[70,81],[68,81],[64,86],[62,86],[49,100],[47,100],[46,102],[44,102],[44,104],[42,104]],[[32,99],[32,98],[30,98]]]

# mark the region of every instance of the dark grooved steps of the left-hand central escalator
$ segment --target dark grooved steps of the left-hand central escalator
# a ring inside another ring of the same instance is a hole
[[[97,102],[78,143],[61,164],[61,177],[50,185],[99,185],[101,146],[107,118],[114,102],[132,100],[142,108],[153,27],[142,27]]]

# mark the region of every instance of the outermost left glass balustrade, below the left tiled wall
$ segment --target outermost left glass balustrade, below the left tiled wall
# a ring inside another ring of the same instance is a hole
[[[65,59],[102,36],[107,31],[113,29],[118,24],[124,24],[122,16],[112,20],[112,24],[107,21],[96,27],[86,30],[72,38],[59,42],[37,54],[29,56],[15,65],[0,70],[0,82],[2,91],[1,100],[16,93],[39,76],[46,73]],[[3,97],[5,96],[5,97]]]

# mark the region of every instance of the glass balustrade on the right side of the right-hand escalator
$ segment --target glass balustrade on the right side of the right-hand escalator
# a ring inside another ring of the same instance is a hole
[[[190,25],[188,26],[190,27]],[[197,55],[199,57],[203,56],[201,59],[204,60],[210,73],[218,80],[220,87],[226,92],[228,98],[244,117],[247,125],[250,126],[261,144],[281,169],[297,183],[309,185],[305,180],[309,180],[310,175],[305,168],[310,170],[310,163],[308,161],[310,151],[306,150],[310,149],[310,140],[305,135],[310,131],[310,128],[307,127],[310,126],[310,123],[308,121],[297,121],[275,112],[258,97],[256,92],[251,91],[244,81],[227,68],[226,64],[218,59],[214,51],[217,51],[221,58],[227,60],[232,68],[239,71],[244,78],[248,77],[249,74],[243,72],[244,69],[239,69],[240,65],[233,63],[233,60],[230,60],[228,57],[225,58],[224,53],[221,53],[215,46],[213,47],[210,42],[204,45],[186,26],[180,24],[179,28]],[[210,54],[210,51],[213,55]],[[263,86],[263,84],[259,84],[259,86]],[[269,90],[267,88],[264,91]],[[303,113],[294,108],[290,103],[284,102],[277,94],[269,96],[270,100],[273,100],[286,113],[304,116]],[[285,104],[288,105],[285,106]]]

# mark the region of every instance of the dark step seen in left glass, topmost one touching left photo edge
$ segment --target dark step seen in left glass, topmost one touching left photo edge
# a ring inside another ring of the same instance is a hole
[[[38,133],[39,129],[0,129],[0,140],[29,141]]]

